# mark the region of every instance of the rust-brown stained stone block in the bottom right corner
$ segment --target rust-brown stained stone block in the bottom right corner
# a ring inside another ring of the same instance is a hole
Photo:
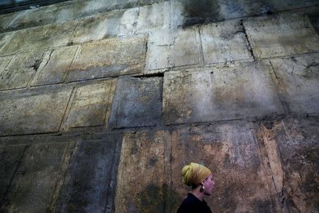
[[[260,127],[283,212],[317,212],[319,187],[318,117],[265,122]],[[274,144],[274,146],[272,146]],[[273,161],[274,161],[273,160]]]

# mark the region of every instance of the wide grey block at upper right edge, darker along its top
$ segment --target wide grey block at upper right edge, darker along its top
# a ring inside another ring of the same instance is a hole
[[[319,50],[318,34],[307,16],[289,13],[249,18],[244,26],[257,59]]]

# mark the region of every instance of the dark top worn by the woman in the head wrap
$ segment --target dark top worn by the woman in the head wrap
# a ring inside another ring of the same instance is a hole
[[[211,213],[211,209],[205,200],[201,201],[195,195],[189,193],[185,200],[181,202],[177,213]]]

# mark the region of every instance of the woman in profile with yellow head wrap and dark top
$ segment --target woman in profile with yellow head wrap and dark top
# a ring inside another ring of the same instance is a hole
[[[189,163],[181,170],[182,182],[192,187],[191,193],[181,202],[177,213],[211,213],[203,197],[211,195],[215,182],[211,170],[198,163]]]

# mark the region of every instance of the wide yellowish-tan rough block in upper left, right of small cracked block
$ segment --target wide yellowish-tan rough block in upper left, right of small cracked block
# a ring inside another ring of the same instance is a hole
[[[127,75],[145,65],[147,36],[111,38],[81,45],[69,68],[68,81]]]

